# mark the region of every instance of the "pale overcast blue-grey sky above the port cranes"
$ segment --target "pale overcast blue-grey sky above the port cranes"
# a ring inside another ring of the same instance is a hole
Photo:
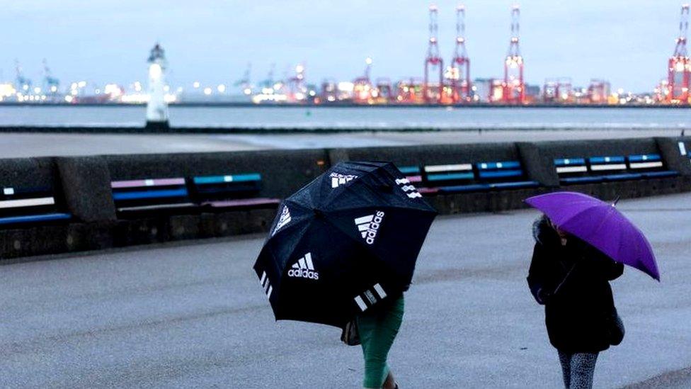
[[[471,77],[502,77],[515,1],[467,0]],[[428,1],[395,0],[4,0],[0,13],[2,79],[14,60],[35,83],[48,60],[62,84],[144,80],[158,40],[169,82],[232,84],[251,62],[253,82],[298,62],[310,83],[350,80],[372,57],[372,77],[421,77]],[[457,1],[439,7],[439,45],[450,60]],[[525,79],[571,77],[586,86],[604,78],[615,88],[649,91],[666,77],[678,33],[678,0],[524,0],[521,52]]]

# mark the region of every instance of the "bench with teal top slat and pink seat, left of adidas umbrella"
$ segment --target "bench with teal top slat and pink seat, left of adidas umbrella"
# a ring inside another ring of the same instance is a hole
[[[195,200],[209,208],[262,208],[280,203],[278,198],[257,197],[261,190],[259,173],[196,176],[192,184]]]

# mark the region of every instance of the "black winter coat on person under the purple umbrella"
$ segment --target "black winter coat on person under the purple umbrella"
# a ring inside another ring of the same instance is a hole
[[[549,342],[568,353],[608,349],[607,317],[615,306],[609,281],[622,275],[624,265],[573,236],[562,245],[545,218],[535,222],[533,235],[527,281],[544,304]]]

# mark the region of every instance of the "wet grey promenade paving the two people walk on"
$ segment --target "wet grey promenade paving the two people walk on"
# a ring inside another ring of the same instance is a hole
[[[691,385],[691,194],[622,201],[662,282],[613,282],[627,325],[595,388]],[[418,260],[390,355],[401,388],[559,388],[527,290],[537,213],[447,216]],[[275,322],[251,266],[263,237],[0,266],[1,388],[358,388],[338,329]],[[309,303],[309,298],[306,298]]]

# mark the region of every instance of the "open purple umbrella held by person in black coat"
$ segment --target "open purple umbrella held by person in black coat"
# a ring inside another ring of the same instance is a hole
[[[525,202],[542,210],[560,230],[660,281],[650,242],[638,227],[619,213],[615,204],[576,192],[547,193],[526,198]]]

